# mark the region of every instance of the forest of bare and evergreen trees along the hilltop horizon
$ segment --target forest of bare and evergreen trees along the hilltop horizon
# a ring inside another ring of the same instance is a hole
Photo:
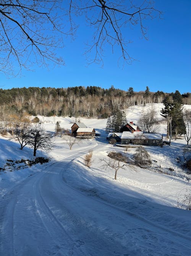
[[[85,116],[108,118],[113,109],[123,110],[129,106],[146,103],[162,103],[174,93],[162,91],[134,92],[133,87],[127,91],[103,89],[97,86],[68,88],[12,88],[0,89],[1,112],[9,114],[31,114],[33,116]],[[191,93],[181,95],[183,104],[191,104]]]

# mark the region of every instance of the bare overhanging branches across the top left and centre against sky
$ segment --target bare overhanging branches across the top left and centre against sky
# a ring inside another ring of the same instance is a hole
[[[78,15],[84,15],[87,24],[93,28],[92,43],[88,45],[86,54],[94,51],[95,55],[89,63],[102,62],[106,44],[112,46],[112,51],[113,46],[118,45],[122,58],[131,63],[133,58],[127,51],[130,38],[125,39],[122,30],[127,29],[127,24],[139,25],[142,36],[147,38],[144,19],[160,17],[160,14],[152,0],[142,1],[138,6],[130,0],[123,3],[120,0],[2,0],[0,71],[10,76],[19,73],[22,67],[31,68],[36,63],[40,66],[47,66],[49,61],[64,64],[56,50],[63,47],[63,35],[74,38],[78,25],[73,16]],[[16,71],[12,66],[15,61],[19,66]]]

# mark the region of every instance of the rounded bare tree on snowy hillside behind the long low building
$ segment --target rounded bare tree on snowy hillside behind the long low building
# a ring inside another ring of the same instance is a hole
[[[157,120],[156,111],[151,109],[150,111],[141,115],[138,123],[141,130],[146,132],[157,132],[159,129],[159,121]]]

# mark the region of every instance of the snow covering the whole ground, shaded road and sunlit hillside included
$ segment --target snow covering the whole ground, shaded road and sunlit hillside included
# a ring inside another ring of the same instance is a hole
[[[137,122],[154,107],[135,106],[126,111]],[[190,106],[185,106],[190,108]],[[40,117],[46,130],[55,123],[70,129],[74,118]],[[80,140],[72,150],[61,137],[55,147],[37,157],[50,157],[43,165],[7,165],[7,160],[33,159],[33,150],[19,149],[16,141],[0,136],[0,255],[2,256],[187,256],[191,255],[191,211],[177,208],[189,175],[182,167],[185,139],[163,147],[146,146],[152,168],[127,166],[118,171],[102,168],[108,151],[133,157],[134,148],[109,145],[106,119],[80,118],[100,136]],[[159,132],[166,133],[160,123]],[[93,151],[92,165],[84,155]],[[179,160],[177,160],[179,159]],[[9,162],[10,163],[10,162]],[[169,173],[172,175],[160,173]]]

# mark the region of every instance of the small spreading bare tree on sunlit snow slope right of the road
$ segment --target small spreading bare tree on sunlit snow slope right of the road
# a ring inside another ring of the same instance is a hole
[[[110,152],[113,153],[113,152]],[[115,152],[114,152],[115,153]],[[122,162],[125,161],[124,157],[121,154],[108,154],[110,157],[101,159],[102,168],[105,170],[108,169],[108,167],[115,171],[115,180],[117,180],[117,172],[120,169],[125,169],[125,166],[127,166],[126,163]]]

